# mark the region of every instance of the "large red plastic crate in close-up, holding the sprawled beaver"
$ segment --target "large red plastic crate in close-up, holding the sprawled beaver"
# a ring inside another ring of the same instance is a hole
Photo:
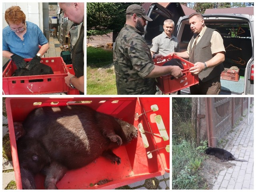
[[[6,98],[17,189],[22,189],[22,184],[13,122],[22,122],[35,108],[72,105],[74,101],[86,101],[78,104],[88,105],[98,112],[122,118],[137,128],[142,124],[145,131],[155,135],[146,134],[148,147],[145,147],[139,134],[137,140],[132,140],[130,144],[115,149],[114,153],[122,159],[120,165],[111,164],[106,158],[99,157],[96,163],[92,162],[82,168],[69,170],[57,183],[59,189],[113,189],[170,171],[170,151],[165,150],[165,146],[170,147],[170,139],[163,141],[159,138],[157,135],[160,133],[156,125],[156,119],[159,119],[156,117],[161,116],[168,137],[170,136],[169,98]],[[158,110],[152,110],[152,106]],[[140,116],[135,119],[134,116],[137,113]],[[152,154],[151,158],[148,157],[148,153]],[[104,179],[111,181],[103,185],[90,186]],[[35,180],[37,189],[44,189],[44,176],[37,174]]]

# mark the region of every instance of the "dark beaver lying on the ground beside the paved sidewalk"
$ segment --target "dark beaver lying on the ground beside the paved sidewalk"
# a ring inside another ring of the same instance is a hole
[[[209,147],[206,149],[205,153],[208,155],[214,155],[219,159],[221,159],[222,161],[228,161],[228,160],[246,161],[246,160],[235,158],[230,152],[217,147]]]

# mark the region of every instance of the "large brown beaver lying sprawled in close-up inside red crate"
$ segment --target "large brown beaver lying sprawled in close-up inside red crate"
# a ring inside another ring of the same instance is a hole
[[[138,137],[132,124],[84,105],[36,108],[22,128],[16,126],[24,189],[36,188],[38,172],[46,175],[46,189],[57,189],[56,183],[67,170],[86,166],[99,156],[120,164],[121,158],[112,150]]]

